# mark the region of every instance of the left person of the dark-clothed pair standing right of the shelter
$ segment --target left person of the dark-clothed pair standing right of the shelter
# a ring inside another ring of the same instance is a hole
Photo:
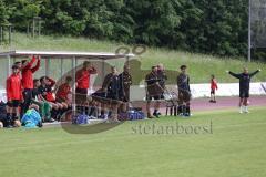
[[[147,118],[154,118],[160,116],[158,110],[160,110],[160,100],[163,97],[164,90],[160,85],[160,79],[157,75],[157,66],[152,66],[151,73],[149,73],[145,76],[145,83],[146,83],[146,111],[147,111]],[[151,114],[151,101],[154,100],[154,112],[153,115]]]

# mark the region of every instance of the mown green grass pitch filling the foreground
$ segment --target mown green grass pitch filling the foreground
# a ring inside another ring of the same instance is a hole
[[[190,119],[127,122],[100,134],[62,128],[0,129],[1,177],[263,177],[265,107],[196,112]],[[212,122],[212,132],[211,129]],[[208,127],[201,134],[144,134],[137,127]],[[141,134],[142,133],[142,134]]]

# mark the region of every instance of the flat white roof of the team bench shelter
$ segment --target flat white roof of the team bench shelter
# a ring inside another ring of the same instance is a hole
[[[100,60],[112,60],[112,59],[123,59],[133,58],[134,54],[115,54],[115,53],[94,53],[94,52],[66,52],[66,51],[7,51],[0,52],[0,58],[11,56],[11,58],[24,58],[30,55],[41,55],[42,58],[57,58],[57,59],[100,59]]]

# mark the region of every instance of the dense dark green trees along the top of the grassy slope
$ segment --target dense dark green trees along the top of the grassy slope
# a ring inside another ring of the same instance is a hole
[[[0,0],[0,23],[217,55],[247,54],[247,0]]]

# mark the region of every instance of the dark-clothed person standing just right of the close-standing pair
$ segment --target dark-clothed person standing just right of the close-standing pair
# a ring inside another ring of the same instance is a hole
[[[190,76],[186,73],[186,65],[182,65],[181,73],[177,75],[178,107],[177,113],[182,116],[191,116],[191,87]]]

